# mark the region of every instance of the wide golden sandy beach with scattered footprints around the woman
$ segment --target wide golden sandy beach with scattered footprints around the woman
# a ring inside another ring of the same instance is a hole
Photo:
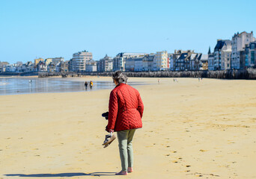
[[[151,83],[136,87],[132,174],[105,176],[121,163],[117,140],[101,145],[111,90],[100,90],[1,95],[0,178],[256,178],[256,81],[129,81]]]

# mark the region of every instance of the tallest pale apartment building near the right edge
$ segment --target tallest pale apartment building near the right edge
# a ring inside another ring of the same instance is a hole
[[[232,37],[232,54],[231,54],[231,68],[232,69],[243,69],[243,60],[241,59],[241,52],[244,50],[246,45],[255,41],[253,32],[247,33],[243,31],[241,34],[237,32]]]

